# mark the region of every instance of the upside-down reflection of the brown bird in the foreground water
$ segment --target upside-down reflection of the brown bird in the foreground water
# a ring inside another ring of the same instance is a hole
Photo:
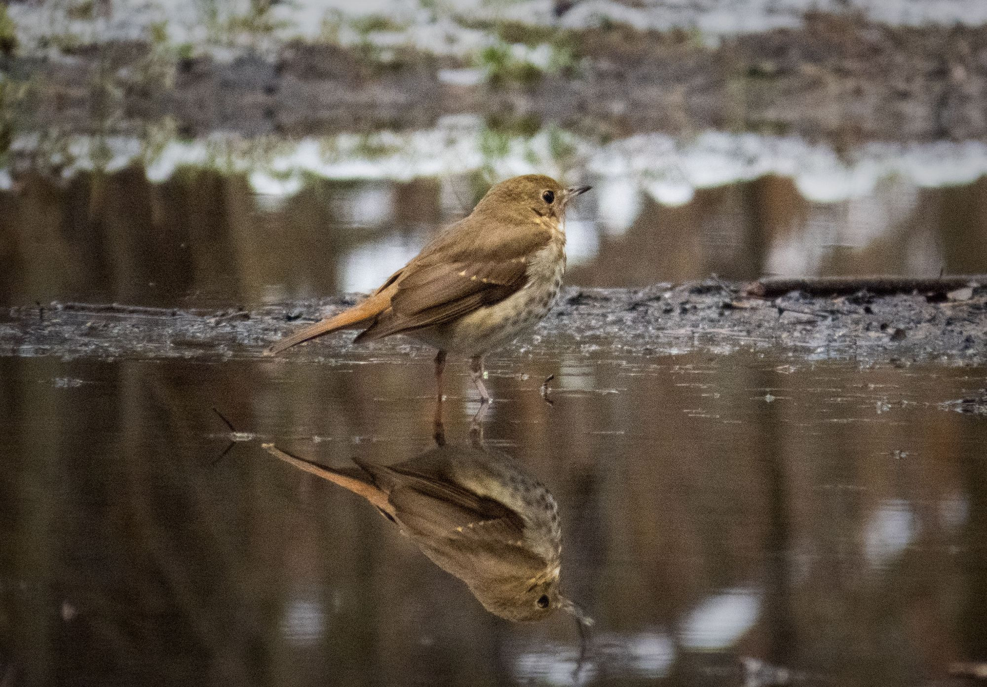
[[[479,433],[465,445],[445,444],[436,433],[438,445],[411,460],[383,466],[354,458],[358,468],[342,470],[264,447],[366,498],[494,615],[534,621],[561,608],[576,617],[581,634],[591,621],[561,591],[555,497],[516,460],[486,447]]]

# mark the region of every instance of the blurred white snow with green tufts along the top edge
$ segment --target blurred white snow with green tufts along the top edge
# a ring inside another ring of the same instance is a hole
[[[477,20],[562,28],[604,23],[642,30],[678,28],[694,31],[710,43],[738,33],[797,27],[810,10],[857,10],[892,25],[987,23],[984,0],[582,0],[561,18],[555,16],[551,0],[294,0],[274,4],[262,17],[252,17],[249,0],[114,0],[103,14],[95,5],[89,17],[79,16],[78,5],[72,0],[9,4],[22,50],[57,52],[44,45],[59,38],[98,42],[157,37],[173,47],[190,44],[197,52],[231,59],[248,49],[269,54],[278,44],[301,38],[409,45],[436,54],[469,56],[497,42],[493,33],[473,28]],[[387,22],[377,22],[381,28],[375,28],[367,21],[371,17]],[[538,63],[548,46],[512,49]]]

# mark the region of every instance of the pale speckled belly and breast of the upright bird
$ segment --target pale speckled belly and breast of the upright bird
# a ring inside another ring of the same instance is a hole
[[[520,291],[486,308],[438,327],[408,332],[418,341],[442,350],[466,355],[483,355],[498,345],[508,344],[544,318],[559,295],[565,259],[553,261],[551,270],[541,274]]]

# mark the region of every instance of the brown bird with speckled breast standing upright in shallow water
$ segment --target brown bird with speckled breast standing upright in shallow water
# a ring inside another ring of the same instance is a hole
[[[405,334],[438,348],[439,400],[446,353],[453,351],[471,357],[472,379],[486,403],[484,354],[552,307],[566,270],[566,206],[589,189],[566,189],[536,174],[500,182],[366,300],[272,344],[265,354],[351,327],[364,328],[356,342]]]

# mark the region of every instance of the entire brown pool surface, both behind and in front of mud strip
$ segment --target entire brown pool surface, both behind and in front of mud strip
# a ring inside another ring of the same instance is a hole
[[[471,131],[22,139],[0,169],[0,305],[365,291],[533,169],[595,187],[569,217],[569,284],[987,271],[979,144]],[[337,468],[422,454],[431,351],[0,357],[0,684],[873,687],[987,659],[987,423],[956,412],[987,369],[641,356],[609,336],[493,354],[482,426],[559,503],[588,644],[563,613],[494,617],[365,500],[262,448]],[[461,360],[446,392],[466,445]]]

